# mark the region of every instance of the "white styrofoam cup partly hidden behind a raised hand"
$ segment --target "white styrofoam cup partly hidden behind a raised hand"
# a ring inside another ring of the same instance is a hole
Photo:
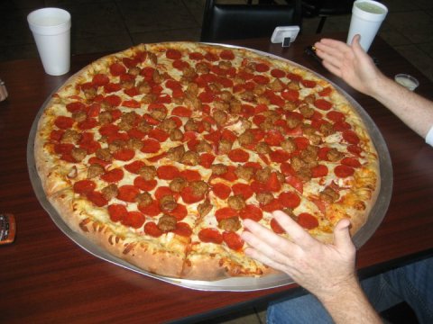
[[[370,6],[370,8],[368,8]],[[371,10],[373,7],[373,10]],[[356,34],[361,35],[361,47],[368,51],[374,37],[379,31],[383,20],[388,14],[388,8],[373,0],[357,0],[352,8],[352,19],[350,21],[347,44],[351,44]]]

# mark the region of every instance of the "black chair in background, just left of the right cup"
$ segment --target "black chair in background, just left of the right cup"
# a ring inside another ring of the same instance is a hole
[[[355,0],[302,0],[302,17],[320,17],[317,33],[320,33],[327,17],[338,14],[351,14]]]

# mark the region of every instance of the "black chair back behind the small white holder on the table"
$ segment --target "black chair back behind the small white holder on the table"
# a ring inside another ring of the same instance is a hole
[[[215,4],[207,0],[200,40],[271,38],[275,27],[300,23],[300,0],[288,0],[288,4]]]

